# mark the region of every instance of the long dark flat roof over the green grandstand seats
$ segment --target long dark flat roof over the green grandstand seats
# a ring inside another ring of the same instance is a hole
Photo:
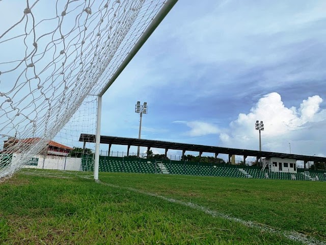
[[[95,142],[95,135],[80,134],[79,141]],[[100,143],[134,145],[134,146],[144,146],[150,148],[161,148],[161,149],[181,150],[181,151],[184,150],[184,151],[192,151],[192,152],[219,153],[219,154],[267,157],[267,158],[280,157],[280,158],[289,158],[289,159],[302,160],[302,161],[326,162],[326,157],[305,156],[305,155],[286,154],[286,153],[277,153],[277,152],[263,152],[263,151],[260,152],[254,150],[225,148],[225,147],[201,145],[201,144],[176,143],[176,142],[152,140],[152,139],[136,139],[136,138],[101,135]]]

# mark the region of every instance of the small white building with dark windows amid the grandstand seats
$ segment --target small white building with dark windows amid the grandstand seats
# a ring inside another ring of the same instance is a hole
[[[271,172],[296,173],[296,160],[289,158],[271,157],[263,159],[263,166]]]

